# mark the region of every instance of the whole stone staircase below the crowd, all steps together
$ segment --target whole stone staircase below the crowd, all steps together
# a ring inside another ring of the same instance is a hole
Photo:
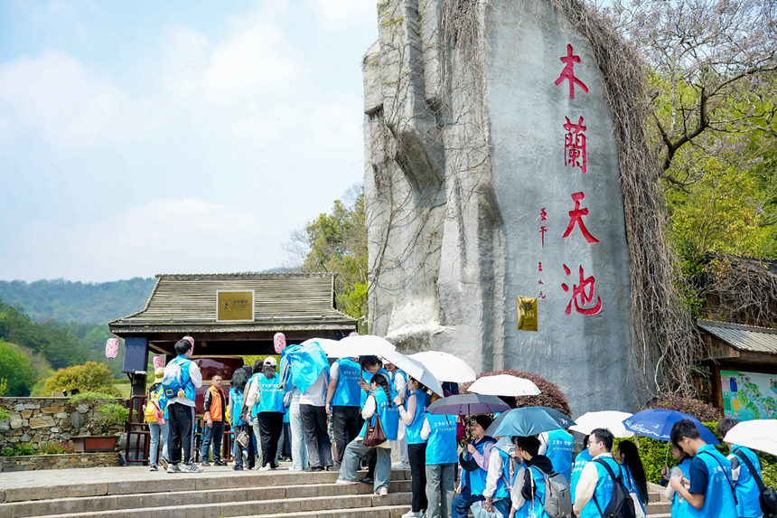
[[[371,485],[335,485],[335,472],[132,472],[123,480],[61,484],[51,470],[48,485],[5,487],[0,518],[398,518],[410,510],[409,470],[392,472],[386,496],[373,494]]]

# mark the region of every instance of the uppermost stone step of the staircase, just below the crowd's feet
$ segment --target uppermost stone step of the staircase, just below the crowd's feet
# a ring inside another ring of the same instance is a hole
[[[64,470],[68,471],[68,470]],[[366,472],[360,472],[364,476]],[[135,474],[134,474],[135,475]],[[209,469],[204,473],[144,472],[145,478],[132,480],[108,480],[106,482],[80,482],[78,484],[18,485],[5,488],[5,502],[49,500],[52,498],[77,498],[87,496],[108,496],[138,493],[169,493],[181,491],[208,491],[213,489],[236,489],[299,484],[333,484],[337,480],[335,471],[302,473],[298,471],[240,471],[229,468]],[[391,480],[408,480],[410,470],[391,472]],[[5,507],[5,506],[4,506]]]

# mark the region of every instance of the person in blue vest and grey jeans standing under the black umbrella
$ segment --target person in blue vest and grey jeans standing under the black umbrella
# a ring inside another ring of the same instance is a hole
[[[432,394],[429,404],[439,400]],[[421,438],[426,440],[426,516],[448,518],[454,503],[456,477],[456,416],[426,412]]]

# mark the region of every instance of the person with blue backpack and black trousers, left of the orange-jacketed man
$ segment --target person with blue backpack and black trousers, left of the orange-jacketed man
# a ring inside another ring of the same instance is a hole
[[[199,473],[202,469],[194,464],[194,398],[197,388],[202,386],[202,374],[200,367],[189,359],[194,353],[191,336],[176,342],[174,349],[178,355],[164,367],[162,380],[169,418],[167,473]],[[183,466],[179,467],[182,460]]]

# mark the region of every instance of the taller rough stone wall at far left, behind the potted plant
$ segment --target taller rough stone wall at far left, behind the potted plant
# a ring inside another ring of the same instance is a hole
[[[90,435],[86,425],[93,410],[70,398],[0,398],[0,408],[11,412],[11,419],[0,421],[0,448]]]

